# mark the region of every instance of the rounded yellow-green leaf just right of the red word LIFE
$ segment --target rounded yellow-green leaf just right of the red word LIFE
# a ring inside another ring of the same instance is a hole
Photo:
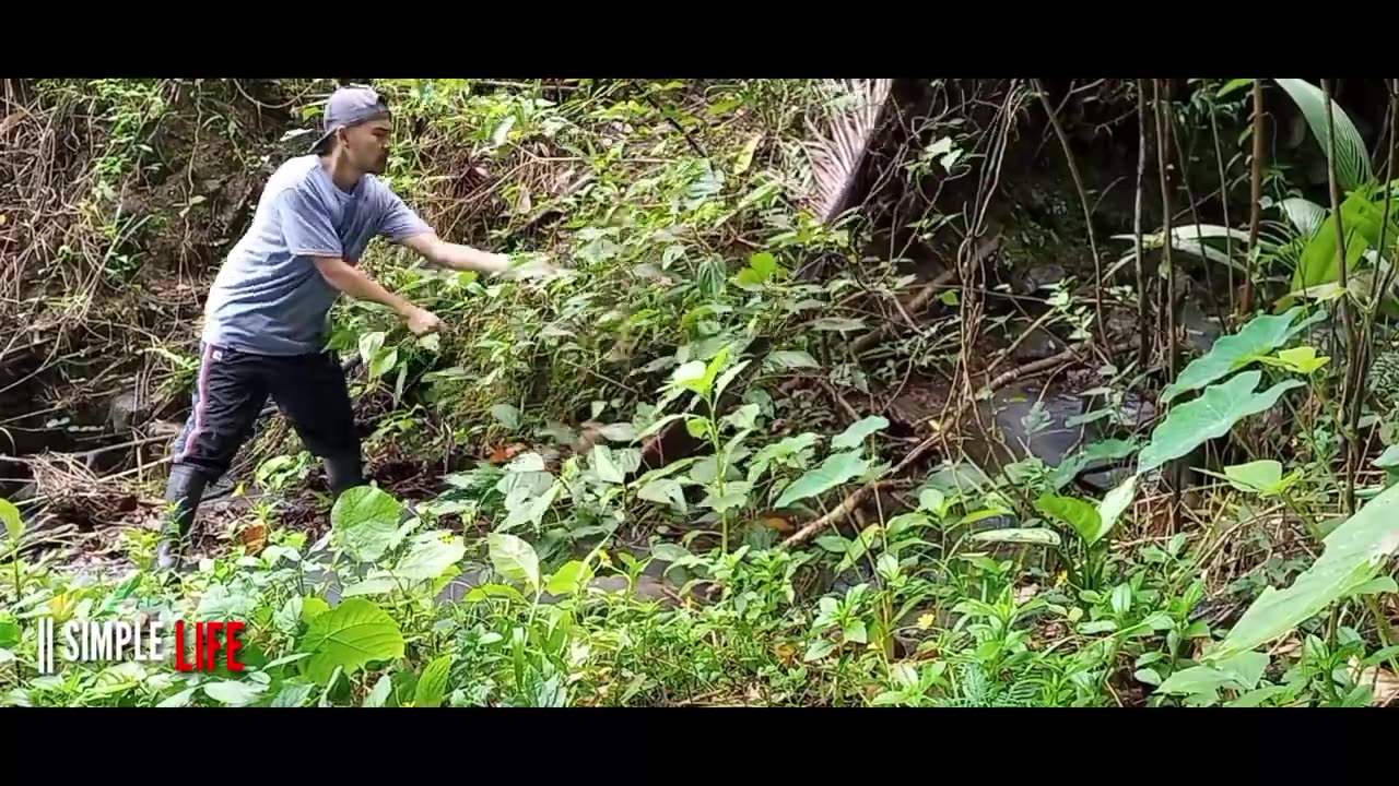
[[[351,674],[372,660],[403,657],[403,631],[388,611],[351,597],[311,621],[301,649],[311,653],[306,674],[323,685],[336,669]]]

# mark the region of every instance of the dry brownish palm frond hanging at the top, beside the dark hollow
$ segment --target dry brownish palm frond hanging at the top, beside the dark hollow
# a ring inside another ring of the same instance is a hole
[[[888,102],[893,80],[831,80],[825,87],[841,97],[841,106],[821,124],[807,117],[811,138],[804,143],[811,164],[809,201],[823,222],[849,207],[851,192]],[[824,126],[824,127],[823,127]]]

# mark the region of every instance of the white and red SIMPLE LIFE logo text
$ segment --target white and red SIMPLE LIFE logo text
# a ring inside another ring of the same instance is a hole
[[[175,638],[169,642],[159,621],[130,622],[125,620],[70,620],[56,628],[52,617],[38,618],[38,655],[42,674],[56,673],[56,655],[66,663],[111,663],[134,660],[140,663],[168,663],[172,657],[178,671],[214,671],[222,656],[229,671],[242,671],[243,663],[238,641],[243,622],[206,621],[175,622]],[[173,645],[173,646],[171,646]]]

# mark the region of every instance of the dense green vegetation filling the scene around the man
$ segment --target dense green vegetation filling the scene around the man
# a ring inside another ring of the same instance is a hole
[[[442,235],[564,274],[372,246],[446,324],[334,312],[375,485],[332,503],[271,420],[201,513],[199,569],[152,572],[151,424],[183,415],[239,206],[330,84],[22,85],[0,284],[32,330],[0,352],[0,428],[145,443],[130,469],[67,443],[0,463],[25,473],[0,501],[0,703],[1399,692],[1393,134],[1367,144],[1304,80],[902,84],[876,108],[907,116],[873,126],[827,83],[376,80],[392,185]],[[1269,138],[1305,136],[1255,161],[1263,88]],[[1363,109],[1393,127],[1392,99]],[[827,215],[820,162],[856,131],[841,183],[865,199]],[[104,357],[147,420],[56,421],[99,399]],[[39,383],[57,415],[4,397]],[[41,676],[49,615],[243,620],[249,669]]]

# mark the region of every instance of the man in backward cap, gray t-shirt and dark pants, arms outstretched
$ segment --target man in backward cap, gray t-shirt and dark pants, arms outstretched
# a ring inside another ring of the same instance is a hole
[[[332,494],[362,483],[344,372],[325,350],[330,306],[344,292],[392,308],[416,334],[441,326],[355,267],[374,236],[452,270],[511,269],[504,255],[441,241],[375,178],[388,164],[393,129],[375,91],[337,90],[323,117],[309,154],[287,161],[267,182],[252,225],[210,290],[194,408],[165,491],[173,513],[157,551],[159,569],[178,565],[204,487],[228,471],[269,396],[325,462]]]

